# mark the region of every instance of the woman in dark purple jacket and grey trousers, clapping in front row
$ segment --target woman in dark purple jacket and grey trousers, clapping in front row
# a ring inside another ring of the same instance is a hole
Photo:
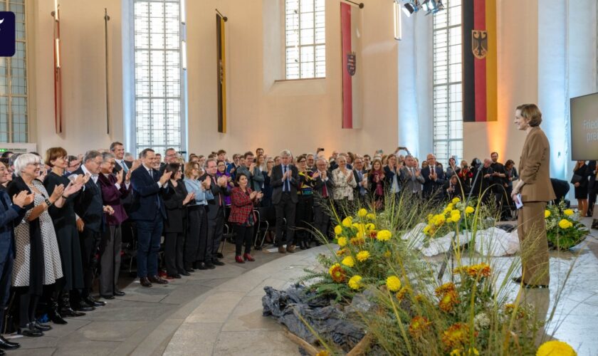
[[[116,296],[125,295],[118,288],[118,273],[120,271],[120,248],[122,245],[122,232],[120,224],[127,220],[125,208],[120,204],[120,199],[127,197],[132,192],[131,172],[125,174],[123,169],[112,174],[116,165],[115,157],[110,152],[102,154],[103,162],[100,164],[98,182],[102,189],[104,206],[112,208],[112,214],[105,214],[105,229],[100,241],[100,296],[105,299],[114,299]]]

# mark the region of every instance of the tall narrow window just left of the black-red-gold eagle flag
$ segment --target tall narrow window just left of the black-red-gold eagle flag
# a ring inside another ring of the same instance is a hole
[[[461,0],[434,15],[434,152],[446,166],[463,159]]]

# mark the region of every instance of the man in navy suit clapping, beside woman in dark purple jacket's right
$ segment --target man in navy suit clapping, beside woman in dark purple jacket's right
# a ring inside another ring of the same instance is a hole
[[[167,189],[172,172],[160,175],[153,168],[157,157],[151,148],[143,150],[140,159],[142,165],[131,174],[133,202],[130,216],[137,223],[137,276],[142,286],[151,287],[152,283],[168,283],[158,275],[158,251],[166,219],[161,193]]]

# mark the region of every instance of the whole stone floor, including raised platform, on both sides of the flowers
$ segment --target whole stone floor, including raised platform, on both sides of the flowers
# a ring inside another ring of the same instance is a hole
[[[592,235],[573,251],[551,252],[549,290],[522,290],[547,316],[554,313],[547,334],[569,342],[578,355],[598,355],[598,234],[593,230]],[[243,265],[233,262],[230,244],[227,251],[226,266],[167,286],[142,288],[123,281],[122,286],[128,283],[125,297],[85,317],[69,318],[68,325],[56,325],[43,337],[20,337],[21,349],[9,355],[299,355],[283,328],[261,315],[263,287],[285,288],[303,268],[315,266],[327,246],[285,256],[255,251],[257,261]],[[512,261],[496,258],[496,270]],[[508,286],[515,298],[518,286]]]

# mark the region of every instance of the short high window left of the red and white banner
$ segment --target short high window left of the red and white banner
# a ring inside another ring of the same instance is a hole
[[[325,0],[285,0],[287,79],[326,76]]]

